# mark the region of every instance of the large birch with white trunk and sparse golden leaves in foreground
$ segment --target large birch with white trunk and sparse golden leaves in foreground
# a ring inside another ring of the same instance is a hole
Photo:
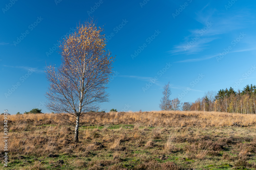
[[[61,41],[61,65],[50,65],[45,71],[49,81],[46,107],[73,126],[75,142],[79,141],[79,123],[86,120],[85,114],[95,114],[89,111],[97,112],[99,103],[108,101],[105,89],[113,74],[114,57],[106,49],[103,31],[93,20],[79,24],[73,34]]]

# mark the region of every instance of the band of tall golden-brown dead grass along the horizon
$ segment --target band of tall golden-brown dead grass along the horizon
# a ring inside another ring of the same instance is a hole
[[[82,117],[83,118],[83,117]],[[81,118],[81,119],[82,119]],[[85,115],[84,118],[93,118],[93,115]],[[226,126],[231,122],[248,126],[256,124],[254,114],[233,114],[222,112],[203,111],[151,111],[151,112],[110,112],[99,113],[99,116],[91,119],[88,123],[93,124],[135,124],[135,130],[140,126],[153,125],[154,127],[209,127]],[[13,130],[24,130],[26,123],[46,123],[53,121],[62,124],[55,114],[22,114],[9,115],[8,119],[15,122]],[[3,121],[3,117],[0,118]],[[136,123],[135,123],[136,122]],[[168,122],[168,123],[167,123]]]

